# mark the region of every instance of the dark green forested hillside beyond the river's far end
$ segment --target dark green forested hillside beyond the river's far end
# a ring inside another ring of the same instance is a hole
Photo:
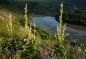
[[[55,15],[59,12],[61,2],[46,2],[46,1],[20,1],[20,2],[10,2],[12,6],[24,10],[25,4],[28,4],[28,12],[39,15]],[[69,11],[75,7],[72,4],[64,2],[64,10]]]

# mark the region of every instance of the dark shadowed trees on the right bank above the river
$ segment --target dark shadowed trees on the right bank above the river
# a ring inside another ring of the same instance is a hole
[[[56,20],[58,21],[58,15]],[[86,26],[86,9],[73,10],[63,13],[63,22]]]

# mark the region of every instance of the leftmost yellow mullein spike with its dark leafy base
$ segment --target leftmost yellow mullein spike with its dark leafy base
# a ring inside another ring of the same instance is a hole
[[[9,42],[8,45],[10,47],[10,51],[11,54],[13,54],[14,56],[11,55],[11,58],[16,58],[15,54],[17,54],[17,40],[14,37],[14,25],[13,25],[13,21],[12,21],[12,15],[9,13],[9,21],[7,24],[7,29],[9,32]],[[7,47],[9,49],[9,47]]]

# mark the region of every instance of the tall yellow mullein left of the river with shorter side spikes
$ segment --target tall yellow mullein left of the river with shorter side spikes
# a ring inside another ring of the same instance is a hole
[[[32,26],[32,24],[30,24],[30,26],[28,26],[28,16],[27,16],[27,4],[26,4],[26,6],[25,6],[25,15],[24,15],[24,18],[25,18],[25,37],[26,38],[30,38],[30,35],[32,34],[32,28],[31,28],[31,26]],[[34,34],[35,34],[35,26],[36,26],[36,24],[34,23]],[[33,38],[35,39],[35,35],[33,36]]]

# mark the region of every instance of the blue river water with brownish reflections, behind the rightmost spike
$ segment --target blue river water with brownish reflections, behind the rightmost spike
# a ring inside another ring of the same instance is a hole
[[[55,17],[44,16],[44,17],[33,17],[32,22],[37,24],[37,27],[45,30],[48,33],[54,34],[56,32],[56,26],[59,24]],[[86,38],[86,27],[67,24],[66,32],[70,34],[71,37],[82,37]]]

